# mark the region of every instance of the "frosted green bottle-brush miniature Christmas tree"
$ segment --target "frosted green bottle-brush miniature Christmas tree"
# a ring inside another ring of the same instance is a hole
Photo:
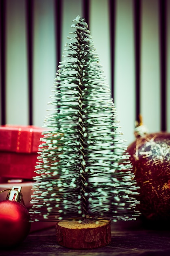
[[[36,221],[79,226],[134,220],[136,183],[113,99],[85,19],[73,21],[39,146],[30,213]]]

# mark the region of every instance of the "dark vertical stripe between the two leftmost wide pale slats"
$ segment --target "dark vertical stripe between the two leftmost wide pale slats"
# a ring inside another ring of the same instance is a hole
[[[26,0],[28,59],[28,123],[33,125],[33,0]]]

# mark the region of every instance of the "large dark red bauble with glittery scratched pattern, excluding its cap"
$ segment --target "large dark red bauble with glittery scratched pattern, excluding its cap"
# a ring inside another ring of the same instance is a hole
[[[137,139],[127,152],[140,187],[137,209],[148,220],[170,220],[170,133],[157,132]]]

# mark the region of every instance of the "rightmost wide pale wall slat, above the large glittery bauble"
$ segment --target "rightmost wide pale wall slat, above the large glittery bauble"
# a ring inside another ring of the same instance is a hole
[[[149,132],[160,131],[158,1],[142,0],[141,114]]]

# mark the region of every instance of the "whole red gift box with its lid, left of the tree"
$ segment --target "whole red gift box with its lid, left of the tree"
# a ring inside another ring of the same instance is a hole
[[[0,177],[33,179],[44,130],[36,126],[0,126]]]

